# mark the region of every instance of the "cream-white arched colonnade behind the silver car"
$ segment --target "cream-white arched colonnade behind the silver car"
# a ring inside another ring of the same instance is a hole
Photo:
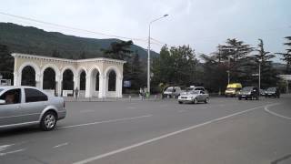
[[[19,53],[12,56],[15,86],[35,86],[57,96],[78,88],[80,97],[122,97],[123,60],[104,57],[73,60]],[[29,76],[32,79],[25,79],[27,72],[33,74]],[[53,81],[48,83],[47,79]]]

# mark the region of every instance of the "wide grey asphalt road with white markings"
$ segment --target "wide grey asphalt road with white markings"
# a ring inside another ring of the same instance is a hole
[[[290,100],[67,102],[54,131],[0,131],[0,163],[291,163]]]

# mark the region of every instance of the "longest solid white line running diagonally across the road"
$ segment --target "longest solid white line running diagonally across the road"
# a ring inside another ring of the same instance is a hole
[[[271,105],[273,105],[273,104],[271,104]],[[270,105],[267,105],[267,106],[270,106]],[[135,149],[136,147],[140,147],[140,146],[146,145],[148,143],[155,142],[155,141],[163,139],[163,138],[169,138],[169,137],[172,137],[174,135],[180,134],[182,132],[185,132],[185,131],[188,131],[188,130],[191,130],[191,129],[199,128],[199,127],[214,123],[214,122],[219,121],[219,120],[223,120],[223,119],[226,119],[226,118],[231,118],[231,117],[234,117],[234,116],[237,116],[237,115],[241,115],[243,113],[250,112],[252,110],[255,110],[255,109],[258,109],[258,108],[264,108],[264,107],[266,107],[266,106],[260,106],[260,107],[256,107],[256,108],[249,108],[249,109],[246,109],[244,111],[240,111],[240,112],[237,112],[237,113],[234,113],[234,114],[231,114],[231,115],[227,115],[226,117],[223,117],[223,118],[212,119],[212,120],[206,121],[204,123],[201,123],[201,124],[189,127],[189,128],[183,128],[183,129],[177,130],[177,131],[172,132],[172,133],[168,133],[166,135],[163,135],[163,136],[160,136],[160,137],[157,137],[157,138],[151,138],[151,139],[148,139],[146,141],[143,141],[143,142],[140,142],[140,143],[136,143],[134,145],[131,145],[129,147],[125,147],[123,149],[116,149],[114,151],[110,151],[110,152],[107,152],[105,154],[97,155],[97,156],[92,157],[92,158],[80,160],[80,161],[75,162],[74,164],[85,164],[85,163],[92,162],[92,161],[97,160],[97,159],[103,159],[103,158],[115,155],[117,153],[129,150],[129,149]]]

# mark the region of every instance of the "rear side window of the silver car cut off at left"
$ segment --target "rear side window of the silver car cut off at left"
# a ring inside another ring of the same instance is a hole
[[[47,96],[34,88],[25,88],[25,102],[47,101]]]

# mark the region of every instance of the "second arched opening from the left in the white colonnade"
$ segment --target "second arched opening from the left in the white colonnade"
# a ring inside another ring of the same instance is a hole
[[[47,67],[44,71],[43,89],[55,90],[55,70]]]

